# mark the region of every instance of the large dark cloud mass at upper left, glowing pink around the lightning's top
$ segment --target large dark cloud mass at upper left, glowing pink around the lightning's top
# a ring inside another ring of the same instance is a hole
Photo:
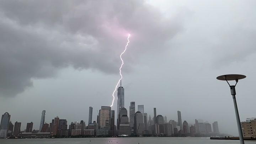
[[[0,96],[68,66],[114,73],[128,33],[132,49],[124,57],[136,63],[145,51],[165,49],[181,23],[142,0],[0,1]]]

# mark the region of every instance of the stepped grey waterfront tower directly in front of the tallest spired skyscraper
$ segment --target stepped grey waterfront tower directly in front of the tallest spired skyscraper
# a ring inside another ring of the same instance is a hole
[[[122,109],[121,109],[121,111],[122,111]],[[121,111],[120,111],[120,113],[121,113]],[[119,132],[119,135],[130,135],[131,134],[129,118],[127,115],[121,116],[118,132]]]

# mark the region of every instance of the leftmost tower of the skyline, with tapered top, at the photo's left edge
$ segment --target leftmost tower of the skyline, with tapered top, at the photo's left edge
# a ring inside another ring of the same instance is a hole
[[[4,115],[2,115],[0,124],[0,138],[7,137],[10,119],[11,115],[9,115],[8,112],[5,112]]]

